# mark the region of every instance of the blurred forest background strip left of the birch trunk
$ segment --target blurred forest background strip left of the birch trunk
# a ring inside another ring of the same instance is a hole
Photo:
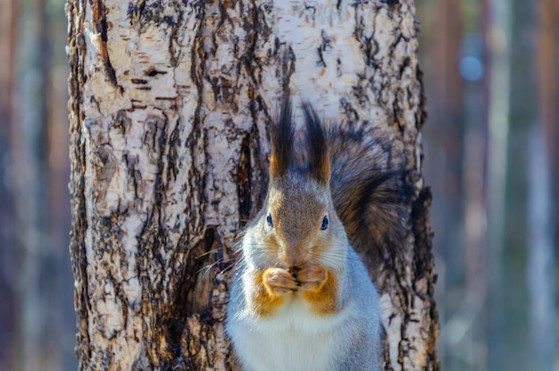
[[[0,2],[0,370],[75,369],[62,0]]]

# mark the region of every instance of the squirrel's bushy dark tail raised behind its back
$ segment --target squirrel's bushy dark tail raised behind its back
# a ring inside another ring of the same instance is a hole
[[[412,187],[405,171],[388,166],[390,142],[373,132],[333,124],[329,131],[334,207],[355,249],[381,251],[405,238]]]

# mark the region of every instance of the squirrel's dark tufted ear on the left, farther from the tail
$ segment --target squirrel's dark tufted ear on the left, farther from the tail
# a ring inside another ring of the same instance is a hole
[[[277,178],[288,173],[293,153],[293,124],[291,101],[285,93],[281,102],[280,119],[271,125],[270,175]]]

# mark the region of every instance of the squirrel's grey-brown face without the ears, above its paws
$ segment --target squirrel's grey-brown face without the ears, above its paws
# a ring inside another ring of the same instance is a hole
[[[339,227],[328,187],[293,173],[273,181],[257,226],[263,249],[286,268],[328,261]]]

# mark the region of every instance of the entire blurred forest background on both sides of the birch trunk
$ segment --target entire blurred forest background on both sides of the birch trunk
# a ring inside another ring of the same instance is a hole
[[[418,0],[444,370],[556,370],[559,0]],[[63,0],[0,1],[0,371],[73,370]]]

